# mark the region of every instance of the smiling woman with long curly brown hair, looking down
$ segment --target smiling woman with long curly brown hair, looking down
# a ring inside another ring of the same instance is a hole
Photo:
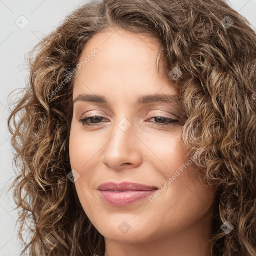
[[[255,46],[221,0],[71,13],[8,119],[22,252],[255,255]]]

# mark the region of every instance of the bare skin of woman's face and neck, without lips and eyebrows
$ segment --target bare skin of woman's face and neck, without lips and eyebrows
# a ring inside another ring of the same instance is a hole
[[[111,28],[90,39],[80,60],[95,48],[99,52],[75,76],[73,99],[96,94],[108,103],[74,103],[69,150],[71,167],[79,173],[75,189],[85,213],[105,237],[105,256],[210,256],[214,190],[202,184],[193,164],[153,202],[145,198],[118,207],[100,198],[97,187],[108,181],[160,188],[189,158],[181,139],[183,127],[157,126],[161,121],[153,118],[178,120],[177,105],[135,102],[142,95],[176,94],[162,60],[159,72],[156,69],[159,42]],[[94,120],[94,127],[79,121],[94,114],[104,117],[88,119]],[[118,126],[123,118],[131,125],[126,131]],[[123,221],[130,226],[126,233],[118,228]]]

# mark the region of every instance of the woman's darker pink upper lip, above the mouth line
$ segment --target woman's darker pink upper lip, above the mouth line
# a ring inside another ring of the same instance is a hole
[[[97,188],[100,191],[105,190],[115,190],[115,191],[122,191],[122,190],[133,190],[133,191],[147,191],[147,190],[155,190],[158,189],[156,186],[148,186],[138,183],[132,182],[122,182],[122,183],[114,183],[114,182],[107,182],[103,183]]]

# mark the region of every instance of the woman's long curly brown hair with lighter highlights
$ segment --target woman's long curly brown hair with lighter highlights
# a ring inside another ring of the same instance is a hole
[[[18,169],[12,183],[31,239],[21,254],[104,255],[104,237],[67,178],[73,70],[109,27],[160,40],[181,99],[182,139],[215,187],[213,256],[256,255],[256,34],[222,0],[103,0],[79,6],[29,52],[29,82],[8,117]],[[19,117],[19,118],[17,118]],[[234,229],[225,234],[221,225]]]

